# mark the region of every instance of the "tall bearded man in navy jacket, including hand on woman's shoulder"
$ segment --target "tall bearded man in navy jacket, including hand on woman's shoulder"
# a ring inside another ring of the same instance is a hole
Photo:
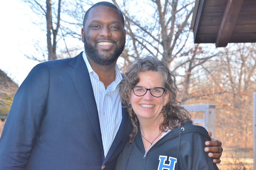
[[[20,85],[2,136],[0,169],[114,169],[131,130],[121,107],[116,61],[124,18],[100,2],[84,16],[84,52],[35,66]],[[220,162],[218,140],[209,141]]]

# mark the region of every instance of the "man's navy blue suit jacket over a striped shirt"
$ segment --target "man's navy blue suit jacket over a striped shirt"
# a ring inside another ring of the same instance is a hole
[[[0,169],[114,169],[131,130],[125,109],[122,116],[105,158],[82,53],[40,63],[14,97],[0,138]]]

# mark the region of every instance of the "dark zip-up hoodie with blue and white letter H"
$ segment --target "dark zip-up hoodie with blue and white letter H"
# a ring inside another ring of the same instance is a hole
[[[171,130],[145,152],[140,129],[132,144],[126,143],[118,157],[116,170],[218,169],[213,158],[204,151],[210,141],[206,129],[185,122]]]

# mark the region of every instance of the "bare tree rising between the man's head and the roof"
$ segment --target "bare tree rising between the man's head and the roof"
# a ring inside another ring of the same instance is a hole
[[[125,16],[129,57],[137,52],[150,53],[170,64],[184,50],[189,38],[191,43],[188,24],[193,0],[123,0],[122,4],[112,1]]]

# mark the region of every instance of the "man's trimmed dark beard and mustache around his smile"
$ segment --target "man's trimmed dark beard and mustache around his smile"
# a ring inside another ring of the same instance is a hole
[[[105,53],[100,54],[99,50],[96,47],[97,43],[95,43],[95,45],[92,46],[91,44],[87,43],[86,38],[84,37],[84,51],[88,55],[87,57],[92,59],[95,63],[100,64],[101,66],[109,66],[110,64],[116,62],[118,57],[122,54],[124,50],[125,40],[122,46],[118,46],[116,42],[114,43],[116,44],[114,53],[111,54],[109,53],[110,50],[104,50]]]

